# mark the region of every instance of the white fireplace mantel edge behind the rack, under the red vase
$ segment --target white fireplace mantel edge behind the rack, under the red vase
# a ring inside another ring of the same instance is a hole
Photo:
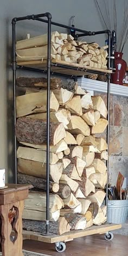
[[[80,77],[78,78],[78,85],[91,92],[92,95],[93,92],[107,93],[107,82]],[[121,96],[128,96],[128,86],[120,86],[119,84],[111,83],[110,93]]]

